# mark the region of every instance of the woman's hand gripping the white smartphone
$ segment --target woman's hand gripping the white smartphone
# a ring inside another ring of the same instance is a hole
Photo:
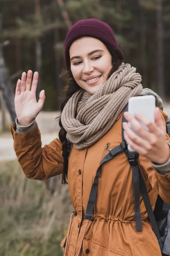
[[[170,158],[170,147],[166,140],[166,128],[161,119],[159,108],[155,110],[155,123],[151,122],[146,116],[136,113],[135,117],[147,126],[148,131],[128,112],[124,113],[127,121],[130,122],[133,129],[127,122],[123,123],[124,137],[128,145],[134,151],[147,157],[152,162],[163,164]]]

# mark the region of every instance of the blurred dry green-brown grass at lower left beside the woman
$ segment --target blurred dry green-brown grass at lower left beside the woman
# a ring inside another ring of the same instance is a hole
[[[73,211],[57,177],[53,195],[29,180],[16,160],[0,163],[0,256],[62,256],[59,246]]]

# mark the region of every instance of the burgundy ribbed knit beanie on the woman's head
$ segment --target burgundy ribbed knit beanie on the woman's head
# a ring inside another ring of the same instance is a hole
[[[119,59],[124,60],[123,53],[119,49],[113,30],[107,23],[98,19],[79,20],[71,27],[65,38],[65,64],[67,70],[70,66],[69,49],[71,44],[83,36],[97,38],[102,43],[114,47]]]

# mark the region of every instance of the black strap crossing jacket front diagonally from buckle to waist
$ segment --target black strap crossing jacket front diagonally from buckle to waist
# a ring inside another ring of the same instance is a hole
[[[123,152],[125,150],[125,148],[126,148],[126,143],[123,141],[119,146],[111,149],[111,151],[103,158],[102,162],[100,163],[100,166],[97,169],[96,176],[94,178],[94,183],[91,188],[90,196],[88,199],[88,206],[87,206],[86,213],[85,213],[85,219],[93,220],[92,214],[93,214],[94,204],[96,201],[97,187],[99,185],[100,167],[102,166],[103,163],[113,159],[114,157],[116,157],[117,154]]]

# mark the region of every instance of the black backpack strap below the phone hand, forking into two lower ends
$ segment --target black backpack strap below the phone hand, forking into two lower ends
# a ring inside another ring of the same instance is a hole
[[[125,111],[127,111],[127,109],[128,109],[128,105],[126,106]],[[127,120],[124,118],[124,116],[122,118],[122,122],[127,122]],[[124,132],[124,129],[122,127],[122,140],[125,141],[123,132]],[[156,219],[155,219],[155,216],[153,214],[153,210],[152,210],[152,207],[151,207],[151,204],[150,204],[150,199],[149,199],[149,196],[148,196],[148,193],[147,193],[147,188],[145,186],[144,179],[143,179],[142,173],[139,169],[139,164],[138,164],[138,161],[137,161],[137,158],[138,158],[139,154],[137,152],[131,152],[130,153],[130,151],[128,151],[128,149],[125,150],[125,154],[127,155],[128,161],[129,161],[130,155],[133,155],[134,159],[136,159],[136,162],[134,162],[134,165],[132,165],[129,162],[130,165],[132,166],[132,174],[133,174],[136,231],[139,231],[137,229],[140,227],[139,226],[140,222],[141,222],[141,226],[142,226],[141,212],[140,212],[140,202],[139,202],[139,193],[141,192],[141,195],[142,195],[142,198],[143,198],[143,201],[144,201],[144,205],[145,205],[145,208],[147,210],[147,214],[149,216],[150,223],[151,223],[152,228],[153,228],[153,232],[155,233],[157,239],[159,240],[161,237],[160,237],[159,230],[158,230],[158,227],[157,227],[157,224],[156,224]],[[135,183],[137,183],[137,184],[135,184]],[[137,186],[137,185],[139,186],[139,189],[135,188],[135,186]],[[137,207],[136,207],[136,204],[137,204]],[[137,214],[136,214],[136,211],[137,211]],[[140,212],[140,215],[139,215],[139,212]],[[140,220],[139,220],[139,216],[140,216]]]

